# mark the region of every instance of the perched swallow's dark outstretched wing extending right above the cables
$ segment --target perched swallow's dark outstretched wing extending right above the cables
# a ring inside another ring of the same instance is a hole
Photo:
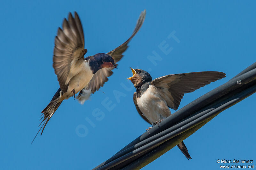
[[[171,74],[154,79],[151,85],[158,88],[168,107],[177,110],[185,93],[194,92],[200,87],[226,77],[225,75],[217,71]]]

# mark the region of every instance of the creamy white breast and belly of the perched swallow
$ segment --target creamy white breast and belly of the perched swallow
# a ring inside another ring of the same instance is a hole
[[[152,125],[156,121],[164,119],[171,115],[171,111],[163,98],[156,92],[156,87],[149,85],[149,88],[140,98],[137,98],[137,104],[145,117]]]

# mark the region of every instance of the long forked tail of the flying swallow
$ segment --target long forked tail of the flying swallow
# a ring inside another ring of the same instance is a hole
[[[50,103],[44,108],[44,110],[42,111],[42,118],[43,121],[39,124],[39,126],[43,123],[43,125],[41,126],[41,128],[38,130],[37,134],[40,132],[40,130],[42,129],[41,135],[43,134],[44,128],[46,126],[46,124],[48,123],[48,121],[51,119],[52,115],[54,114],[54,112],[58,109],[58,107],[60,106],[61,102],[58,102],[60,99],[60,91],[61,89],[59,88],[59,90],[54,94],[52,100],[50,101]],[[42,119],[41,118],[41,119]],[[41,120],[40,119],[40,120]],[[38,127],[39,127],[38,126]],[[36,136],[37,136],[36,134]],[[31,144],[34,142],[36,136],[34,137],[33,141],[31,142]]]

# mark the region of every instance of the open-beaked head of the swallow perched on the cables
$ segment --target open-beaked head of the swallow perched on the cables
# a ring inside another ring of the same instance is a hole
[[[132,69],[131,67],[130,69],[132,70],[132,77],[129,77],[127,79],[131,80],[135,88],[143,85],[144,83],[152,81],[152,77],[147,71],[140,69]]]

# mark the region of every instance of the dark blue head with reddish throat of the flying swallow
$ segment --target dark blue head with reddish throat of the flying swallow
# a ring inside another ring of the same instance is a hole
[[[111,57],[108,54],[99,53],[95,55],[95,58],[100,65],[100,69],[111,68],[111,67],[117,68],[117,64],[115,63],[115,60],[113,59],[113,57]]]

